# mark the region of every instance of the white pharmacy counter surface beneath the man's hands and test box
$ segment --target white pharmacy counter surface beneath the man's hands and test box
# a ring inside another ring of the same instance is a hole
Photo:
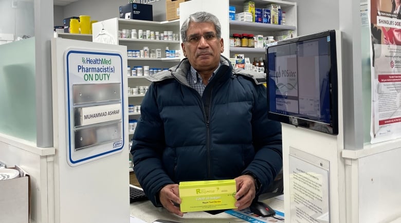
[[[284,201],[277,198],[270,198],[263,200],[271,208],[283,212],[284,211]],[[219,223],[219,222],[258,222],[254,221],[259,219],[258,217],[251,216],[253,220],[245,217],[245,215],[238,214],[233,216],[226,212],[220,214],[212,215],[206,212],[189,212],[185,213],[183,217],[172,214],[164,208],[156,208],[152,203],[148,201],[139,201],[131,203],[131,215],[137,219],[143,220],[144,222],[152,223],[157,219],[177,221],[177,222],[199,222],[199,223]],[[235,212],[237,213],[237,212]],[[234,215],[235,215],[234,213]],[[276,215],[277,216],[277,215]],[[138,221],[140,222],[140,221]],[[263,222],[263,221],[259,221]],[[278,221],[280,222],[280,221]]]

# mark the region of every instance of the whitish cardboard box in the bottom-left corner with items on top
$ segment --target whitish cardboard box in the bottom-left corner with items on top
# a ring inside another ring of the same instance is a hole
[[[0,180],[0,222],[28,223],[30,219],[30,178],[19,166],[20,177]]]

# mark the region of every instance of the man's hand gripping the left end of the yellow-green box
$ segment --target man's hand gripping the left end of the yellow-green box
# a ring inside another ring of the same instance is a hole
[[[167,211],[179,216],[184,216],[184,213],[179,209],[181,199],[179,198],[178,184],[167,184],[160,190],[159,194],[161,205]]]

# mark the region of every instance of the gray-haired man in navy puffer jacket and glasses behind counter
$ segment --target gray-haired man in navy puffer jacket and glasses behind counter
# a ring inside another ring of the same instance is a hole
[[[181,27],[185,59],[149,77],[131,153],[156,207],[183,216],[180,181],[235,179],[247,208],[282,168],[281,125],[267,119],[266,77],[233,69],[221,55],[216,16],[191,14]],[[178,204],[178,205],[177,205]]]

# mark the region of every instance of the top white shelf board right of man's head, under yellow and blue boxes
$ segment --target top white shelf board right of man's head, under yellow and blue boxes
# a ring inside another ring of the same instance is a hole
[[[276,24],[253,23],[253,22],[230,20],[230,30],[231,29],[254,31],[254,32],[260,32],[261,30],[264,30],[264,32],[266,32],[269,30],[296,30],[297,27],[288,25],[276,25]]]

